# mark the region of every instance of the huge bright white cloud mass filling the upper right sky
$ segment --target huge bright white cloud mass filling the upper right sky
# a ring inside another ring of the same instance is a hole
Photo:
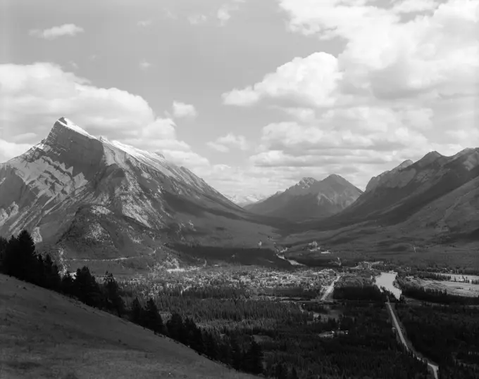
[[[479,146],[478,0],[278,4],[292,32],[344,48],[294,58],[223,94],[225,105],[292,117],[263,127],[251,167],[291,179],[337,173],[364,187],[430,150]]]

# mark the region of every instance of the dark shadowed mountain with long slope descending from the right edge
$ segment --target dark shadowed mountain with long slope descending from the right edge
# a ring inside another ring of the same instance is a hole
[[[371,179],[342,212],[305,221],[294,233],[304,231],[321,231],[331,236],[323,238],[329,243],[369,246],[366,249],[380,248],[379,241],[385,244],[382,249],[399,240],[478,243],[479,148],[450,157],[431,152],[417,162],[403,162]]]

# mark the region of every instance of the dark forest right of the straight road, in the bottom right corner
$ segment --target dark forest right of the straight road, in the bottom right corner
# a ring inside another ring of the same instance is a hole
[[[479,309],[397,304],[413,346],[440,365],[441,379],[479,378]]]

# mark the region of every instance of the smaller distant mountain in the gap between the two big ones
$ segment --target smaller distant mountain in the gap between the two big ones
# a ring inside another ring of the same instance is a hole
[[[303,178],[284,192],[246,207],[249,212],[290,220],[328,217],[354,203],[362,191],[339,175]]]

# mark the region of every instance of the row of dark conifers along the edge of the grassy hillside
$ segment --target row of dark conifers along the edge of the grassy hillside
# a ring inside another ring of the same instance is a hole
[[[152,298],[147,301],[146,307],[142,307],[138,298],[133,300],[130,308],[125,307],[113,274],[107,272],[103,283],[98,283],[84,266],[75,274],[67,272],[62,278],[51,257],[46,255],[43,258],[36,252],[35,243],[27,231],[22,231],[17,237],[12,236],[10,240],[0,238],[0,270],[20,280],[75,297],[90,307],[110,311],[119,317],[125,316],[155,334],[167,335],[199,354],[238,370],[254,374],[263,371],[263,353],[254,340],[249,347],[244,347],[244,344],[239,346],[235,339],[226,340],[219,333],[201,330],[191,318],[183,321],[178,313],[173,313],[164,324]]]

